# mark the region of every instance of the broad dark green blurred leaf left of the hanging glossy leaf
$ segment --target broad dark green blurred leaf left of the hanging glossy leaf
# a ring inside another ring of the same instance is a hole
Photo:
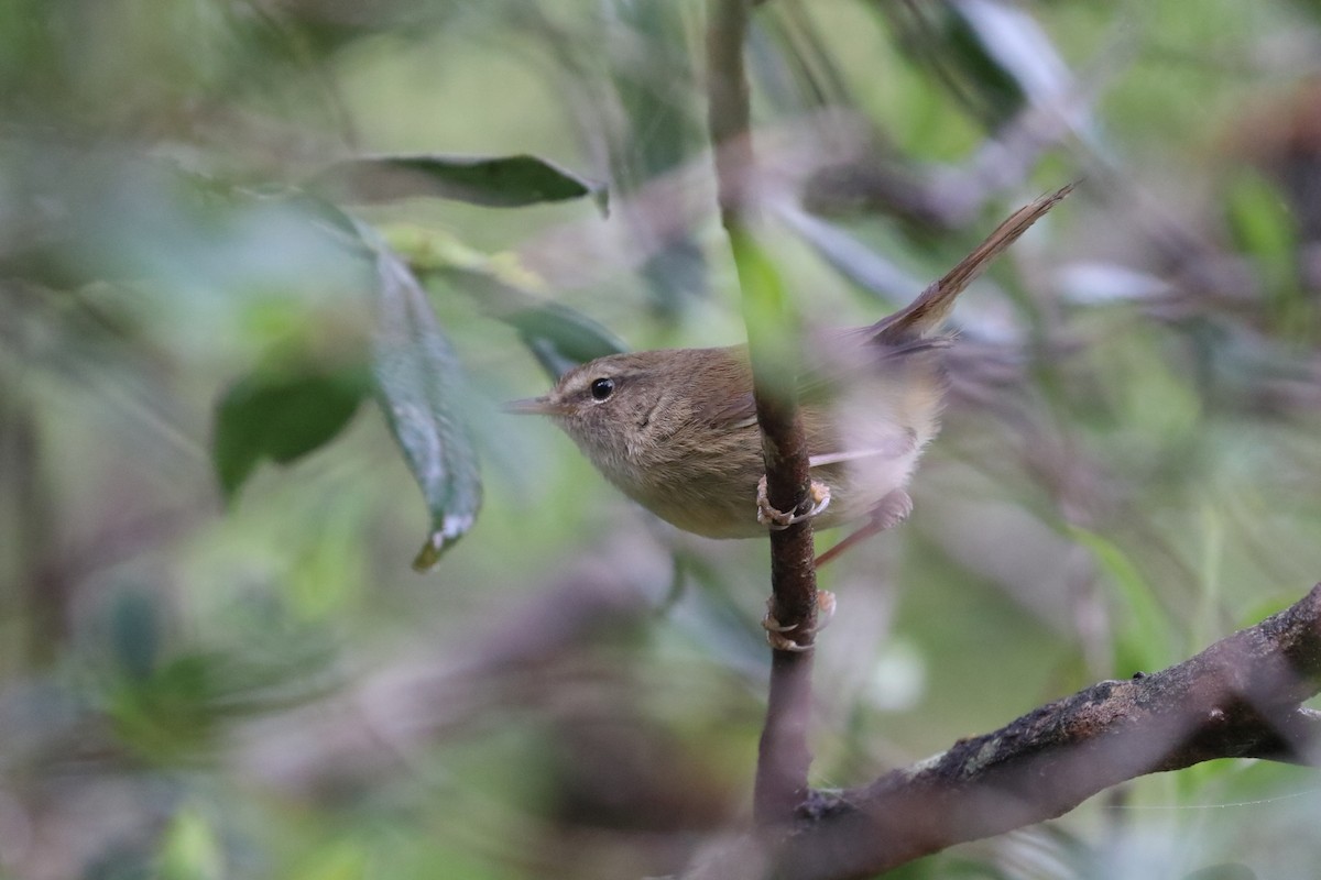
[[[215,408],[211,460],[225,500],[263,459],[279,464],[334,439],[367,391],[357,367],[259,369],[230,385]]]

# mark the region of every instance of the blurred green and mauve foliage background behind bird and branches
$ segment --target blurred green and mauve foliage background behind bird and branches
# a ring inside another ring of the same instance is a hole
[[[0,877],[646,876],[746,818],[764,545],[497,412],[741,336],[703,26],[0,4]],[[960,305],[914,517],[824,575],[818,782],[1317,581],[1318,44],[1301,0],[758,5],[745,257],[808,326],[1083,178]],[[1095,801],[894,876],[1316,863],[1297,768]]]

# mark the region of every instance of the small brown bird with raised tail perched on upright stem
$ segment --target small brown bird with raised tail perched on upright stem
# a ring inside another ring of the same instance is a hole
[[[810,347],[797,389],[814,478],[808,516],[819,528],[867,517],[819,563],[908,516],[905,487],[939,430],[947,385],[941,350],[952,338],[935,331],[968,282],[1071,189],[1020,208],[908,307]],[[756,537],[795,519],[765,500],[746,346],[598,358],[506,409],[550,416],[608,480],[686,532]]]

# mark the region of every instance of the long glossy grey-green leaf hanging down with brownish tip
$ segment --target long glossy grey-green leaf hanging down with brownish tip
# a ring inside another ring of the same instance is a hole
[[[428,571],[482,503],[477,451],[457,413],[462,375],[408,265],[371,230],[359,226],[359,235],[375,251],[379,280],[376,396],[431,512],[432,532],[413,559]]]

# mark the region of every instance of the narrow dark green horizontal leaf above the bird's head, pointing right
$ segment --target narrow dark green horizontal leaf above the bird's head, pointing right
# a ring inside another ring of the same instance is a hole
[[[608,211],[602,183],[567,172],[535,156],[369,156],[332,165],[313,183],[339,201],[394,202],[437,197],[485,204],[522,207],[592,197]]]

